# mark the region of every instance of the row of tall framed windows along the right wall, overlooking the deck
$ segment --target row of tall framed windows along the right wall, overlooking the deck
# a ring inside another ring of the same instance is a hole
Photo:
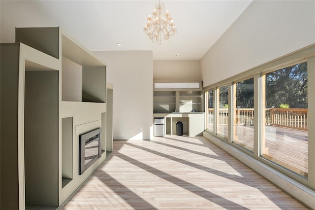
[[[214,83],[205,100],[207,131],[223,138],[227,150],[239,149],[312,189],[314,52],[315,44]]]

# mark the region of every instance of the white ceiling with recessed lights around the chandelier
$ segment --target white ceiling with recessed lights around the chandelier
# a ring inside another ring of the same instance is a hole
[[[0,0],[0,41],[13,42],[15,27],[60,26],[91,51],[152,50],[154,60],[199,60],[252,0],[162,0],[177,34],[160,45],[143,32],[155,2]]]

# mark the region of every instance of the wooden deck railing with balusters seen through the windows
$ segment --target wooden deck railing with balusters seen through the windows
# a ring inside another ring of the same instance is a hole
[[[266,125],[308,130],[307,108],[266,108]],[[208,108],[209,124],[213,123],[214,109]],[[236,108],[236,125],[252,125],[253,108]],[[228,124],[228,108],[219,108],[219,124]]]

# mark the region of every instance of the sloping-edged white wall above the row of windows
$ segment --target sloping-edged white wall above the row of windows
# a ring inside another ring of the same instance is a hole
[[[203,86],[312,43],[314,0],[254,0],[201,58]]]

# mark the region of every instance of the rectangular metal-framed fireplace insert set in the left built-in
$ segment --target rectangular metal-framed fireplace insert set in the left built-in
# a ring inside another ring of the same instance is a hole
[[[79,135],[79,175],[101,156],[101,128]]]

